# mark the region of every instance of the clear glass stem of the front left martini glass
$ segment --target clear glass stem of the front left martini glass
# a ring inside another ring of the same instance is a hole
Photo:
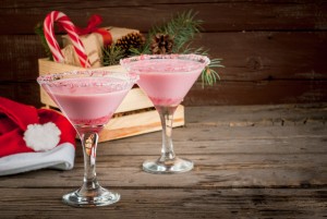
[[[98,138],[98,133],[93,131],[84,132],[81,136],[84,154],[84,183],[81,190],[84,192],[99,187],[96,174],[96,151]]]

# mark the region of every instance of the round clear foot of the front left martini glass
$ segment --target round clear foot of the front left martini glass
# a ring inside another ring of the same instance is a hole
[[[117,203],[119,199],[119,193],[108,191],[101,186],[84,192],[80,188],[62,196],[62,202],[73,207],[107,206]]]

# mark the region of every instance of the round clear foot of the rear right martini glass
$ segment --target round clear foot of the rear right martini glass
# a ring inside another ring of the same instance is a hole
[[[193,162],[187,159],[175,157],[172,160],[146,160],[143,162],[143,170],[154,174],[172,174],[187,172],[194,167]]]

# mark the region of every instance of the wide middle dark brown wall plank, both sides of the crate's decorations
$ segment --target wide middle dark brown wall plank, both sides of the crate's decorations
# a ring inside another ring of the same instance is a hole
[[[327,78],[324,62],[327,57],[325,32],[210,33],[202,34],[194,46],[210,49],[211,58],[223,59],[226,68],[219,69],[222,81],[292,82]],[[3,49],[0,53],[3,69],[0,81],[32,81],[37,77],[37,59],[45,57],[38,36],[0,35],[0,48]]]

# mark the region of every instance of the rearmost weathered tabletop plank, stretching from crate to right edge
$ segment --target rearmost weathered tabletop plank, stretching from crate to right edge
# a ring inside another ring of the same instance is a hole
[[[305,105],[265,105],[251,107],[202,106],[185,108],[185,118],[187,127],[298,125],[296,129],[302,129],[301,125],[311,123],[326,124],[326,108],[327,105],[324,102]],[[311,132],[310,129],[307,131]],[[284,133],[279,133],[280,136],[283,134]],[[311,134],[314,135],[315,132],[312,131]],[[240,133],[238,136],[245,137],[240,135]]]

